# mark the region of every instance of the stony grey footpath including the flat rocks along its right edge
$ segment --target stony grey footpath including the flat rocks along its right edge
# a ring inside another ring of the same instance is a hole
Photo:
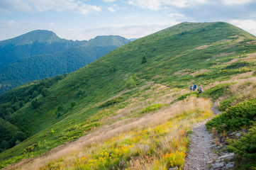
[[[215,105],[213,105],[212,111],[216,115],[221,113]],[[192,128],[192,133],[189,136],[190,150],[183,170],[234,169],[232,160],[235,154],[221,152],[223,145],[213,139],[213,135],[206,130],[207,121],[196,123]]]

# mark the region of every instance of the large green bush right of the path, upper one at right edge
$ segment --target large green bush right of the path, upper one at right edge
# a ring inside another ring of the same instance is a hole
[[[230,106],[228,111],[217,115],[206,123],[206,128],[216,128],[217,132],[240,130],[243,126],[250,126],[256,121],[256,100],[244,101]]]

